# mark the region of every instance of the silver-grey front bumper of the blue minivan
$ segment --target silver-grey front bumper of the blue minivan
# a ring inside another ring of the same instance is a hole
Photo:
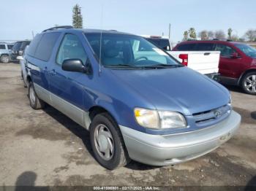
[[[232,111],[226,120],[202,130],[151,135],[120,125],[129,157],[148,165],[171,165],[205,155],[229,140],[241,123]]]

